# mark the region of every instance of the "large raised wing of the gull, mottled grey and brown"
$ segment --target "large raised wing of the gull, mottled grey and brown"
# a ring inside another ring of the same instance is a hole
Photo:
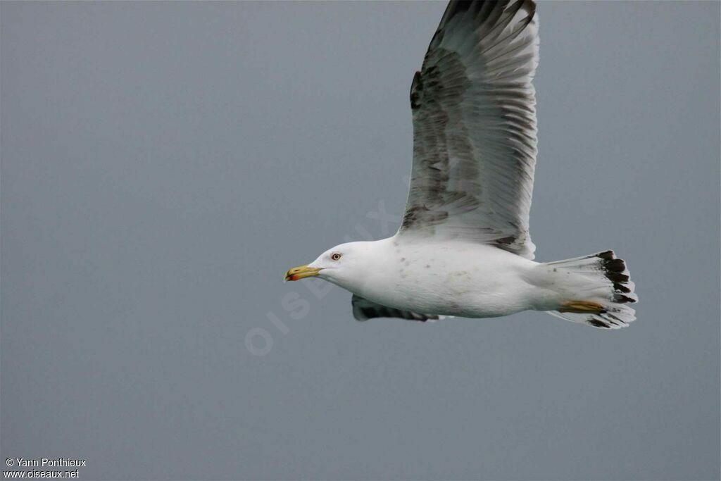
[[[538,44],[531,0],[448,4],[411,87],[413,168],[399,235],[534,258]]]

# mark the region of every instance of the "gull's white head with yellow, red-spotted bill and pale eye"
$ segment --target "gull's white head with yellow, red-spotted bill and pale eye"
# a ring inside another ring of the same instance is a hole
[[[299,265],[286,273],[286,281],[319,277],[344,288],[360,286],[371,268],[371,250],[375,242],[348,242],[323,252],[308,265]]]

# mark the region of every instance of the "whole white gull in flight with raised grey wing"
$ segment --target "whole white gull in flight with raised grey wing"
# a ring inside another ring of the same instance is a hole
[[[353,317],[415,321],[548,312],[626,327],[637,301],[613,251],[535,262],[538,14],[531,0],[451,0],[410,89],[413,162],[393,237],[292,268],[353,293]]]

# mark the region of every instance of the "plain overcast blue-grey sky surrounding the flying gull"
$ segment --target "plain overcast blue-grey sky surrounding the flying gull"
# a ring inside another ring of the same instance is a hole
[[[539,6],[531,232],[537,260],[628,261],[638,320],[603,332],[359,323],[282,282],[396,229],[443,3],[2,2],[1,458],[718,479],[720,5]]]

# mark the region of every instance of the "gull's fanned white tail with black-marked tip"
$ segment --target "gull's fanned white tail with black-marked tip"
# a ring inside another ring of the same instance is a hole
[[[635,286],[626,262],[617,259],[614,251],[544,265],[568,276],[559,276],[559,281],[568,285],[569,299],[549,311],[552,316],[599,329],[620,329],[636,320],[636,311],[629,306],[638,301]]]

